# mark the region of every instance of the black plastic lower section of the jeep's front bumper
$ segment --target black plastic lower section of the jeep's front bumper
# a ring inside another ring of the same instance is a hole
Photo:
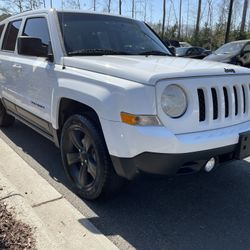
[[[165,175],[173,175],[188,168],[199,171],[211,157],[215,157],[219,163],[235,159],[236,150],[237,144],[193,153],[147,152],[132,158],[111,156],[111,159],[118,175],[132,179],[139,171]]]

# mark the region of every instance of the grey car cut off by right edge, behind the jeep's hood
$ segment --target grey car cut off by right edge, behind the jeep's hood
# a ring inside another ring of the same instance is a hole
[[[226,43],[204,59],[250,67],[250,40]]]

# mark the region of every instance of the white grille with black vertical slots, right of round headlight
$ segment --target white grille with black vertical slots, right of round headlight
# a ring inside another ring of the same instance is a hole
[[[250,112],[250,85],[198,88],[199,121],[243,118]]]

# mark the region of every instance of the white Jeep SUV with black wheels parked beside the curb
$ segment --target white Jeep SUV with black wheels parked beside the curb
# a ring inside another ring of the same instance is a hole
[[[176,58],[129,18],[51,9],[4,20],[0,100],[0,126],[16,118],[54,141],[85,199],[139,171],[250,154],[250,70]]]

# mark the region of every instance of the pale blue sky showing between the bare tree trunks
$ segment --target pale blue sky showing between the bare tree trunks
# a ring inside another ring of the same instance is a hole
[[[7,0],[0,0],[0,7],[4,5]],[[55,8],[62,8],[62,2],[64,2],[64,9],[69,9],[70,6],[67,4],[69,1],[78,0],[46,0],[46,7],[52,6]],[[93,10],[93,0],[79,0],[81,9],[83,10]],[[136,12],[135,18],[143,20],[149,23],[159,23],[162,21],[162,0],[134,0],[136,2]],[[173,25],[179,21],[179,4],[181,0],[166,0],[166,26]],[[244,0],[234,0],[234,15],[233,20],[235,23],[239,24],[241,20],[242,6]],[[107,10],[108,0],[96,0],[97,11],[102,12]],[[111,0],[111,13],[118,14],[118,0]],[[147,3],[146,8],[144,3]],[[209,2],[212,2],[213,11],[212,16],[209,19],[208,10]],[[223,2],[228,2],[228,0],[202,0],[201,8],[201,25],[208,22],[214,25],[218,21],[218,17],[221,14],[221,6]],[[122,0],[122,15],[130,16],[132,15],[132,0]],[[181,22],[188,24],[188,26],[194,27],[196,22],[196,15],[198,9],[198,0],[182,0],[182,15]],[[146,14],[145,13],[146,10]],[[247,22],[250,23],[250,6],[247,15]],[[249,24],[250,25],[250,24]]]

